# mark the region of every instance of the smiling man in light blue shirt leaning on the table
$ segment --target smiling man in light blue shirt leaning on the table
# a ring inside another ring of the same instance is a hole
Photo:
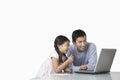
[[[88,43],[86,33],[80,29],[73,31],[72,42],[73,45],[70,46],[67,57],[74,56],[73,71],[94,70],[97,61],[95,44]]]

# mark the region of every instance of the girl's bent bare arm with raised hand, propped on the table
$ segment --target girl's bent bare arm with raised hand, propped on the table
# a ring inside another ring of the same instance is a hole
[[[53,68],[56,73],[61,72],[63,69],[65,69],[69,63],[73,62],[73,56],[70,56],[64,63],[59,65],[59,61],[57,58],[52,57],[52,64]]]

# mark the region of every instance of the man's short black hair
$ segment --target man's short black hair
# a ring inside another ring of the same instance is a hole
[[[84,36],[86,36],[85,31],[81,29],[74,30],[72,33],[72,41],[75,42],[78,37],[84,37]]]

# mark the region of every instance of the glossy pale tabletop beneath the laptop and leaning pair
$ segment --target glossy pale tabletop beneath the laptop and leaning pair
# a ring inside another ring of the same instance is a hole
[[[33,78],[31,80],[120,80],[120,72],[110,72],[104,74],[52,74],[50,76],[44,76],[42,78]]]

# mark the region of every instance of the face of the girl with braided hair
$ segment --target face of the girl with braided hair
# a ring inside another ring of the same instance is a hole
[[[58,49],[59,49],[60,53],[66,54],[67,51],[69,50],[69,47],[70,47],[70,42],[66,41],[62,45],[59,45]]]

